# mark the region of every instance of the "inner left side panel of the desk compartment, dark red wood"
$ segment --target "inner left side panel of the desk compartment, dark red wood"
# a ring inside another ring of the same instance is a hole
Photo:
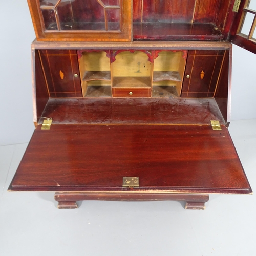
[[[35,51],[35,88],[36,88],[36,116],[37,122],[45,109],[49,99],[49,94],[46,86],[46,80],[41,67],[41,61],[38,51]]]

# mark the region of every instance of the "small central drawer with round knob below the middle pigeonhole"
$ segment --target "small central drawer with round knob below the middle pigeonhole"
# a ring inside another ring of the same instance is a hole
[[[151,97],[151,88],[113,88],[113,97]]]

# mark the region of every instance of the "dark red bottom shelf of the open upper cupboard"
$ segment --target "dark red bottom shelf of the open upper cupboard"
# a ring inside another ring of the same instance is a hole
[[[222,40],[221,31],[212,23],[133,23],[137,40]]]

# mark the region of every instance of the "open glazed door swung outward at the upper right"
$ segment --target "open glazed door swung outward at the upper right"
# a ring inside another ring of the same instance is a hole
[[[231,42],[250,52],[256,53],[256,0],[242,0],[234,17]]]

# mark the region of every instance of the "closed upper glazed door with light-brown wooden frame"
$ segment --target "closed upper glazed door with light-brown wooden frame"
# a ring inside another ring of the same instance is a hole
[[[131,40],[131,0],[28,0],[38,40]]]

